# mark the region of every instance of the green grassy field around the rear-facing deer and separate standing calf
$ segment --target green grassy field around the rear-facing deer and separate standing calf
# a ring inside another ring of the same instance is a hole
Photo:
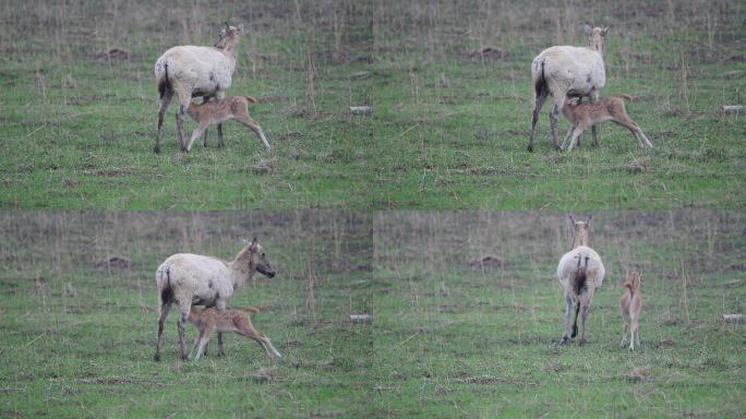
[[[394,213],[371,290],[380,417],[737,418],[746,412],[744,216],[597,213],[607,275],[589,344],[557,345],[565,214]],[[474,261],[492,256],[490,266]],[[624,273],[642,273],[642,348],[619,348]]]

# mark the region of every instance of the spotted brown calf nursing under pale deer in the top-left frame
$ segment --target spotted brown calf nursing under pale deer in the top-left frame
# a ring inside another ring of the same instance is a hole
[[[192,131],[192,139],[189,141],[186,152],[192,151],[194,140],[202,135],[209,125],[220,124],[232,119],[254,131],[256,136],[262,140],[262,143],[264,143],[267,151],[272,151],[272,145],[269,145],[267,137],[264,135],[264,131],[262,131],[258,123],[249,116],[249,104],[255,103],[256,99],[251,96],[228,96],[218,101],[205,100],[202,104],[191,104],[186,113],[189,113],[189,117],[197,123],[197,128]],[[205,137],[203,145],[207,146],[207,137]]]

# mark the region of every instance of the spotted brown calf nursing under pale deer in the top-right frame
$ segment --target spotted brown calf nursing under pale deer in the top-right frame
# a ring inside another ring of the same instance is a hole
[[[573,149],[576,141],[578,141],[587,127],[594,127],[597,123],[605,121],[616,122],[631,131],[635,139],[640,143],[640,147],[645,148],[648,146],[652,148],[652,144],[645,136],[640,127],[627,116],[623,99],[631,101],[633,98],[629,95],[618,95],[604,97],[595,101],[580,101],[578,104],[568,101],[562,108],[562,113],[571,123],[571,127],[567,130],[567,135],[565,135],[565,141],[562,142],[561,148]],[[568,140],[569,145],[565,146]]]

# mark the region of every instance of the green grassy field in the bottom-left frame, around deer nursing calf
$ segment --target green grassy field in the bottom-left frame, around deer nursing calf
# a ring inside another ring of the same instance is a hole
[[[347,212],[0,213],[0,417],[360,417],[373,344],[348,315],[369,311],[371,226]],[[160,261],[231,259],[253,234],[277,276],[230,306],[266,304],[253,323],[284,358],[231,335],[225,358],[181,362],[172,310],[154,362]]]

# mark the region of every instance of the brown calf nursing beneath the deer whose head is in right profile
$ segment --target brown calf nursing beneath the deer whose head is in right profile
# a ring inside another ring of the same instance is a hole
[[[192,358],[194,356],[195,360],[200,359],[213,333],[236,332],[239,335],[256,340],[269,357],[282,358],[272,345],[272,342],[251,324],[250,312],[258,313],[258,309],[218,311],[213,308],[200,310],[192,306],[189,321],[200,331],[200,334],[194,339],[194,347],[189,357]]]

